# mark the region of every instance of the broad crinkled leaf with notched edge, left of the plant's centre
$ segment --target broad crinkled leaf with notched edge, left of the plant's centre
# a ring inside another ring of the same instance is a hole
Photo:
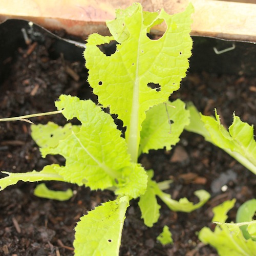
[[[143,194],[146,173],[141,166],[131,162],[125,140],[112,117],[91,100],[67,95],[61,95],[59,99],[55,103],[58,110],[63,109],[62,114],[68,120],[77,117],[81,126],[70,129],[69,135],[60,139],[55,147],[41,148],[42,156],[60,154],[66,158],[66,165],[56,167],[56,170],[67,182],[86,184],[92,189],[117,186],[120,187],[118,194],[124,191],[132,197]],[[42,136],[41,133],[36,135]],[[132,179],[137,182],[136,186]],[[127,184],[130,191],[124,188]]]

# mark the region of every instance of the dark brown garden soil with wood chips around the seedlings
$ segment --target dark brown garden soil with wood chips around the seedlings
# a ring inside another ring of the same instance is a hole
[[[54,40],[32,42],[20,47],[5,60],[5,74],[0,84],[0,117],[12,117],[55,110],[60,94],[81,99],[96,97],[89,88],[83,60],[70,61],[54,53]],[[224,125],[232,114],[256,125],[256,79],[243,75],[189,73],[181,89],[171,99],[193,101],[207,115],[218,109]],[[33,118],[31,121],[60,125],[61,115]],[[187,197],[197,202],[195,190],[206,189],[211,199],[200,209],[186,214],[170,211],[161,204],[161,217],[153,228],[140,219],[137,200],[131,202],[124,223],[120,255],[216,255],[216,250],[202,244],[197,232],[211,224],[212,207],[236,198],[229,221],[235,221],[238,207],[256,197],[256,179],[249,170],[201,136],[184,132],[171,152],[151,151],[140,162],[155,170],[155,179],[173,179],[168,190],[173,199]],[[8,172],[40,170],[46,164],[62,163],[60,156],[40,157],[30,136],[30,124],[22,121],[0,123],[0,169]],[[1,174],[1,177],[4,177]],[[114,199],[110,191],[90,191],[60,182],[47,182],[51,189],[72,188],[74,196],[66,202],[37,198],[35,183],[18,182],[0,192],[0,255],[73,255],[74,227],[80,216],[102,202]],[[223,186],[226,185],[226,190]],[[223,190],[223,191],[222,191]],[[174,244],[162,246],[156,237],[167,225]]]

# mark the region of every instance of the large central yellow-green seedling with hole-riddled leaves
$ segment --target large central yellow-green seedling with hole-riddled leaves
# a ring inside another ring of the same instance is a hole
[[[141,5],[135,3],[117,10],[116,18],[106,22],[112,36],[89,36],[84,52],[88,81],[99,103],[122,120],[126,127],[124,138],[101,106],[91,100],[61,95],[55,103],[58,111],[67,120],[77,118],[81,125],[32,125],[32,137],[40,146],[42,157],[60,154],[66,159],[65,166],[52,164],[40,172],[22,174],[3,172],[8,176],[0,180],[1,189],[19,180],[58,180],[115,192],[114,201],[105,202],[81,217],[75,228],[77,255],[118,255],[125,212],[133,198],[141,196],[139,206],[148,226],[159,218],[156,196],[170,209],[186,212],[209,199],[206,191],[199,190],[195,192],[199,197],[196,205],[186,198],[175,201],[161,189],[168,182],[156,183],[152,180],[153,172],[146,172],[137,163],[138,156],[148,150],[170,150],[189,124],[189,112],[182,101],[166,102],[179,89],[188,68],[192,12],[191,5],[175,15],[164,10],[143,12]],[[162,22],[167,26],[163,36],[150,39],[147,33]],[[99,46],[113,40],[118,43],[116,51],[106,56]]]

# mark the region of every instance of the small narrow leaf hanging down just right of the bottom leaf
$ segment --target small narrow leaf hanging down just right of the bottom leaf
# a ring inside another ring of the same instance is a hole
[[[147,175],[147,188],[145,194],[140,196],[139,207],[144,224],[148,227],[152,227],[160,217],[159,209],[161,206],[157,203],[155,188],[157,185],[155,181],[152,181],[153,171],[148,170]]]

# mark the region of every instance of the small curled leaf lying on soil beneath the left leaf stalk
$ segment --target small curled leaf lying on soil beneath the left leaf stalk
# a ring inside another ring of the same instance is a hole
[[[67,189],[66,191],[55,191],[49,189],[45,183],[41,183],[34,189],[34,195],[41,198],[48,198],[58,201],[66,201],[72,198],[72,189]]]

